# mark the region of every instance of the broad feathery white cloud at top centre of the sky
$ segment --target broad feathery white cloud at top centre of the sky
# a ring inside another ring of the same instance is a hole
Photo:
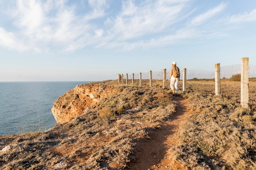
[[[112,26],[111,35],[117,35],[118,40],[158,33],[184,19],[182,10],[186,6],[182,1],[147,0],[137,5],[133,2],[124,1],[120,14],[106,22]]]

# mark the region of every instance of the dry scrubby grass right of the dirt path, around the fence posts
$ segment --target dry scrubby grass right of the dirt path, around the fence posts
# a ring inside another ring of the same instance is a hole
[[[250,86],[250,109],[240,107],[240,83],[221,82],[216,96],[214,82],[187,83],[193,114],[183,122],[179,144],[169,157],[188,169],[256,169],[255,84]]]

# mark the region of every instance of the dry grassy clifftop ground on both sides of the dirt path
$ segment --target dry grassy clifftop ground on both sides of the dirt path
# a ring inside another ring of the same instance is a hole
[[[83,115],[43,132],[0,136],[0,170],[129,169],[136,143],[149,139],[148,130],[161,128],[178,105],[158,80],[151,88],[147,80],[141,87],[138,81],[126,85],[117,80],[81,85],[88,86],[109,93]],[[220,96],[214,86],[213,81],[187,81],[186,93],[178,92],[192,113],[178,128],[167,156],[188,170],[254,170],[256,84],[250,82],[247,110],[240,107],[239,82],[222,81]],[[78,95],[73,92],[67,94]]]

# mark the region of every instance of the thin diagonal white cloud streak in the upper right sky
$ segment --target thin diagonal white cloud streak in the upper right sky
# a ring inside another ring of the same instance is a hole
[[[200,25],[204,22],[207,22],[210,18],[212,18],[214,15],[216,15],[217,13],[219,13],[220,11],[224,10],[226,7],[226,4],[224,4],[223,2],[221,4],[219,4],[217,7],[208,10],[206,13],[202,13],[200,15],[198,15],[197,17],[195,17],[192,21],[191,21],[191,25]]]

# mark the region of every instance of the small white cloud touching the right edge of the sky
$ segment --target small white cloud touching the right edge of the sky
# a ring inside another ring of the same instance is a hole
[[[256,9],[252,10],[250,13],[242,13],[233,15],[230,18],[230,22],[249,22],[249,21],[256,21]]]

